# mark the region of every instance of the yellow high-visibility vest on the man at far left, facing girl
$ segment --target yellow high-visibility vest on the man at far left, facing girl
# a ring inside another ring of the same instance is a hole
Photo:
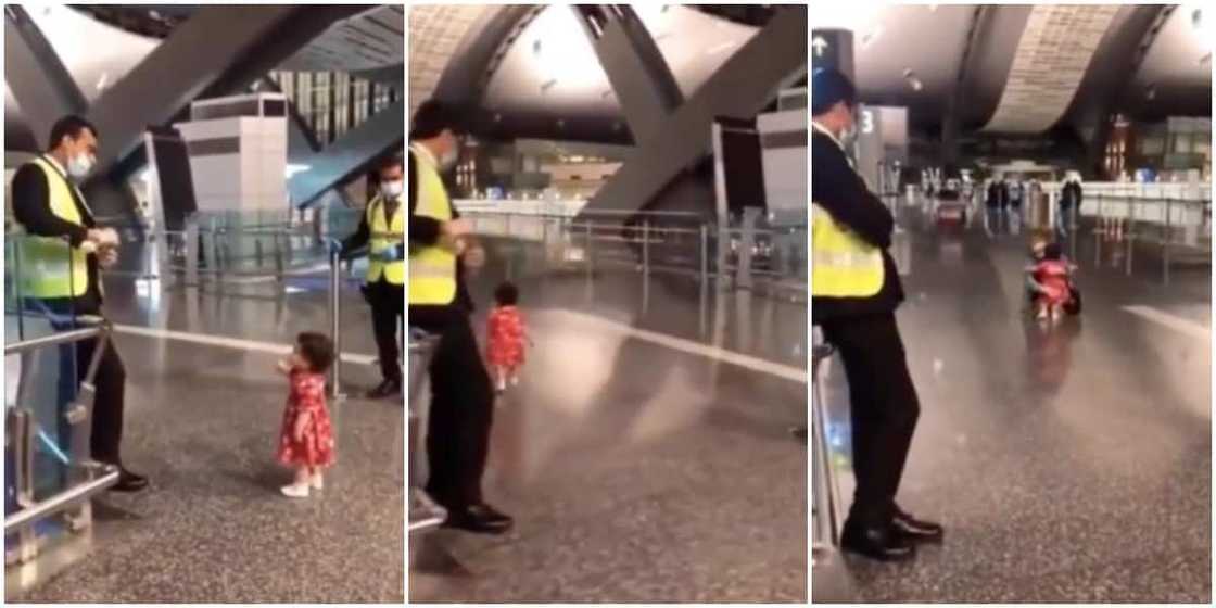
[[[72,197],[74,186],[43,157],[33,161],[46,175],[47,203],[51,213],[64,221],[84,226]],[[68,244],[66,238],[22,236],[22,295],[68,298],[83,295],[89,288],[89,254]]]

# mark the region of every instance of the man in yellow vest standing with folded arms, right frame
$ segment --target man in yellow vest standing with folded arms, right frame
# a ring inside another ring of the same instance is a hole
[[[907,559],[942,528],[895,503],[921,406],[895,309],[903,288],[886,248],[895,220],[854,170],[841,140],[856,91],[835,69],[811,75],[811,319],[849,381],[857,489],[840,537],[851,552]]]

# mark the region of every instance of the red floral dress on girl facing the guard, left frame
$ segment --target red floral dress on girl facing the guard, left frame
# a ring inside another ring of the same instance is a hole
[[[278,432],[278,462],[306,467],[333,465],[333,427],[325,405],[325,376],[297,370],[292,371],[291,384],[283,426]],[[303,440],[297,441],[292,432],[304,412],[311,415],[311,422],[304,429]]]

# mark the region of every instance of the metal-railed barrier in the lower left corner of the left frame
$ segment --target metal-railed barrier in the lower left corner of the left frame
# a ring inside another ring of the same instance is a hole
[[[92,542],[89,500],[118,483],[116,467],[89,457],[94,377],[109,326],[51,313],[23,292],[23,272],[34,271],[21,259],[29,238],[11,233],[5,243],[6,598],[84,557]],[[85,340],[96,347],[78,383],[75,348]]]

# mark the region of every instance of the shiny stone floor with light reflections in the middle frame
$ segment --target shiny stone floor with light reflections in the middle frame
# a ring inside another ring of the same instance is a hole
[[[805,370],[805,305],[629,269],[508,270],[502,247],[472,285],[480,331],[511,274],[536,342],[495,410],[484,485],[517,524],[411,539],[410,601],[805,601],[806,447],[788,429],[806,384],[782,376]]]

